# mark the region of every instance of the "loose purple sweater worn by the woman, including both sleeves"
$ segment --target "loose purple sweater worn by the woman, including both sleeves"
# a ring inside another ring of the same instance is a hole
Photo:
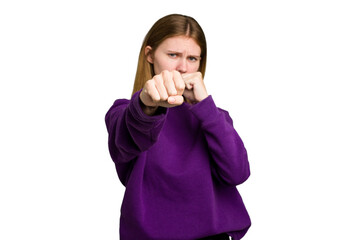
[[[126,187],[121,240],[194,240],[250,227],[236,185],[250,175],[229,114],[211,96],[147,116],[139,92],[106,114],[109,151]]]

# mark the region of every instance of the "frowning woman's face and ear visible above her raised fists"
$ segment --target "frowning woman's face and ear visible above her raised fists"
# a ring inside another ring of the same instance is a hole
[[[193,73],[199,71],[201,48],[194,39],[176,36],[164,40],[155,52],[151,47],[145,48],[147,61],[154,65],[155,74],[164,70]]]

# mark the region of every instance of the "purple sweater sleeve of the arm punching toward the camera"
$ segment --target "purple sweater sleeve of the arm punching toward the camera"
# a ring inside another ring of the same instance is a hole
[[[141,109],[139,94],[135,93],[130,101],[116,100],[105,116],[109,152],[124,185],[132,169],[132,160],[157,141],[167,115],[165,108],[157,115],[146,115]]]

